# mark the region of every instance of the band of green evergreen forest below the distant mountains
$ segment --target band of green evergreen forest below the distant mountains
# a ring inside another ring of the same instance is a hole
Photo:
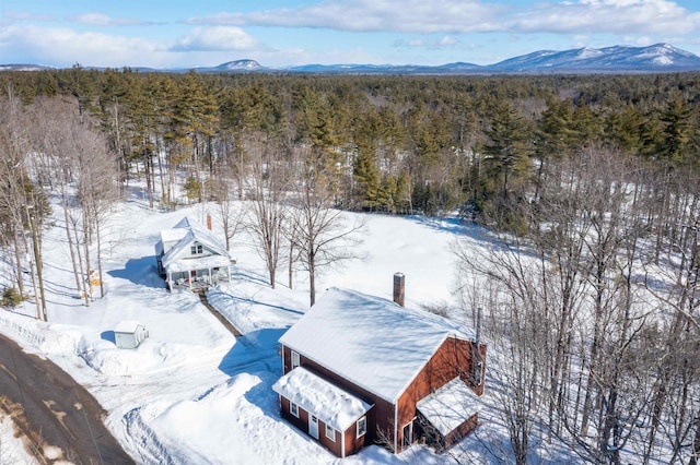
[[[537,189],[550,160],[582,146],[698,163],[693,73],[324,76],[75,65],[2,73],[0,84],[24,104],[72,97],[100,122],[122,179],[145,177],[153,204],[180,201],[178,172],[188,175],[189,198],[211,198],[207,180],[245,164],[244,141],[261,136],[288,152],[323,152],[337,169],[337,206],[401,214],[505,211]],[[520,218],[503,220],[518,227]]]

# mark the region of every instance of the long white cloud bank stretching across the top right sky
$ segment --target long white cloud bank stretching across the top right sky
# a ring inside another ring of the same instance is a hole
[[[198,25],[260,25],[394,33],[670,34],[700,31],[700,14],[669,0],[570,0],[523,7],[482,0],[329,0],[295,9],[221,12]]]

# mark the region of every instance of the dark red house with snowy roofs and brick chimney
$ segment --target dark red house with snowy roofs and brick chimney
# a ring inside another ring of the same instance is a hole
[[[374,443],[444,449],[477,425],[486,346],[451,320],[331,288],[280,345],[282,417],[339,457]]]

